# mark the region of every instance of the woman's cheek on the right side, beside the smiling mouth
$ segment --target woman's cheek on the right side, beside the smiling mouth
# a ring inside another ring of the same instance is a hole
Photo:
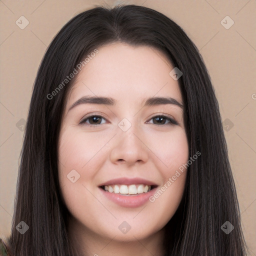
[[[161,172],[163,182],[157,188],[150,202],[155,208],[162,210],[162,219],[169,219],[175,213],[182,194],[186,180],[186,163],[189,150],[185,131],[177,128],[175,131],[158,133],[157,136],[150,134],[151,150],[159,158],[158,170]]]

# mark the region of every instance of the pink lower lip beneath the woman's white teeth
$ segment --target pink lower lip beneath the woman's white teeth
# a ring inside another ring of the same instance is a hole
[[[121,194],[115,194],[114,192],[110,193],[108,191],[105,191],[102,188],[99,188],[101,192],[111,201],[113,201],[116,204],[119,204],[123,207],[139,207],[149,201],[149,197],[153,195],[154,190],[156,187],[151,189],[150,191],[146,193],[141,193],[137,195],[121,195]]]

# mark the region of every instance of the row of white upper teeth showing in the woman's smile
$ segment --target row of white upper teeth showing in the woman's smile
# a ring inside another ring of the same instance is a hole
[[[151,186],[148,185],[105,185],[104,190],[115,194],[141,194],[150,191]]]

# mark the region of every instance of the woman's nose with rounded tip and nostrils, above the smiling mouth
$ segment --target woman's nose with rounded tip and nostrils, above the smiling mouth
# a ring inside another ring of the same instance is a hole
[[[127,131],[118,130],[115,141],[110,151],[110,160],[114,164],[126,164],[131,166],[136,162],[148,160],[148,148],[141,132],[135,125]]]

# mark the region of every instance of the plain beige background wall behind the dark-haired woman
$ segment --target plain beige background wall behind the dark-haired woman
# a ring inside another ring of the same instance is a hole
[[[250,255],[256,255],[255,0],[0,0],[0,236],[10,232],[22,125],[47,45],[79,12],[119,2],[164,13],[200,50],[226,129],[245,239]],[[234,21],[229,29],[221,24],[231,24],[227,15]],[[29,21],[24,29],[15,23],[20,16]]]

